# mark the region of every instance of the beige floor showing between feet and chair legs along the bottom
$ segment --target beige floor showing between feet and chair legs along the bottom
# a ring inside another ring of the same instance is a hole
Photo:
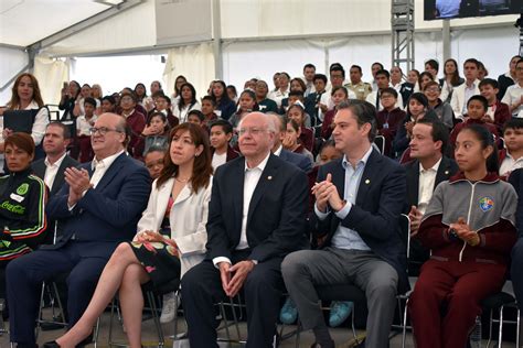
[[[121,330],[121,326],[119,326],[119,324],[116,323],[116,320],[115,320],[115,324],[116,325],[115,325],[114,338],[115,338],[115,340],[118,340],[118,341],[120,341],[125,345],[126,339],[125,339],[125,334]],[[166,335],[172,335],[173,329],[174,329],[174,325],[173,324],[163,325],[163,328],[166,330]],[[292,328],[293,327],[288,327],[288,328],[286,328],[286,331],[291,330]],[[182,331],[185,329],[183,319],[179,319],[179,329],[182,330]],[[102,322],[100,322],[100,333],[99,333],[97,347],[100,347],[100,348],[108,347],[108,344],[107,344],[107,341],[108,341],[108,331],[109,331],[109,315],[104,314],[104,316],[102,317]],[[63,333],[63,330],[42,331],[40,337],[39,337],[39,344],[43,344],[45,341],[53,340],[56,337],[58,337],[62,333]],[[243,337],[245,337],[245,333],[246,333],[246,326],[245,326],[245,323],[242,323],[241,324],[241,335],[243,335]],[[352,342],[352,337],[353,336],[352,336],[351,331],[349,330],[349,328],[331,329],[331,334],[332,334],[333,339],[337,342],[337,347],[343,347],[343,348],[351,347],[350,344]],[[359,331],[359,334],[362,334],[362,331]],[[153,323],[152,323],[151,319],[143,322],[142,335],[143,335],[142,341],[143,341],[145,346],[154,347],[154,346],[158,345],[157,344],[158,339],[157,339],[157,336],[156,336],[154,326],[153,326]],[[233,338],[236,338],[235,329],[231,328],[231,335],[233,336]],[[218,336],[226,337],[225,336],[225,330],[221,330],[218,333]],[[156,341],[154,341],[154,339],[156,339]],[[312,337],[311,333],[302,333],[301,338],[300,338],[299,347],[310,347],[312,341],[313,341],[313,337]],[[226,345],[224,345],[224,346],[226,347]],[[8,347],[9,347],[9,339],[8,339],[7,335],[0,336],[0,348],[8,348]],[[94,347],[94,345],[90,345],[88,347]],[[172,339],[167,340],[166,347],[172,347]],[[239,347],[239,345],[232,345],[232,347]],[[289,338],[287,340],[284,340],[280,344],[280,347],[288,347],[288,348],[296,347],[295,337]],[[391,348],[399,348],[399,347],[402,347],[402,335],[394,336],[391,339]],[[407,345],[406,345],[406,347],[414,347],[410,335],[407,335]],[[483,347],[487,347],[487,341],[483,342]],[[515,345],[511,344],[511,342],[503,342],[503,347],[513,348],[513,347],[515,347]]]

